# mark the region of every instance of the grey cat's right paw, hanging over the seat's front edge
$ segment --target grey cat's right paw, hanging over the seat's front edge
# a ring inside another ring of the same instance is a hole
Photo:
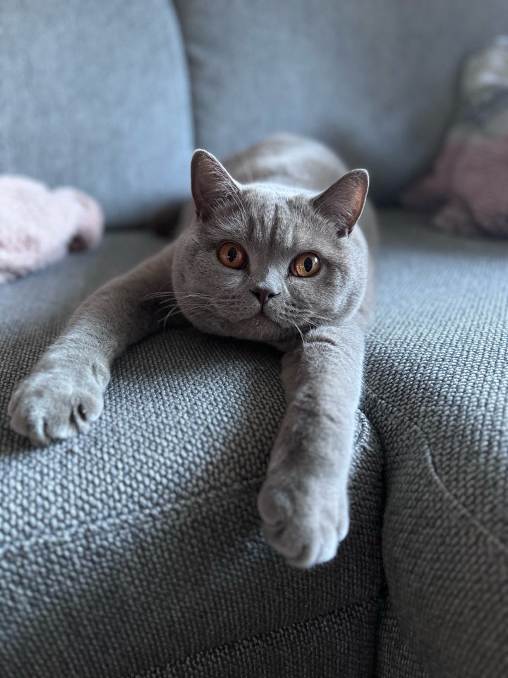
[[[331,560],[349,530],[344,483],[286,465],[269,472],[258,497],[267,542],[288,564],[308,568]]]

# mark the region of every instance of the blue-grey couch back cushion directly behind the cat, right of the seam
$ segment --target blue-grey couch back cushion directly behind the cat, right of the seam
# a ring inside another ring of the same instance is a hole
[[[507,25],[505,0],[176,0],[196,141],[219,157],[304,133],[393,198],[437,153],[457,69]]]

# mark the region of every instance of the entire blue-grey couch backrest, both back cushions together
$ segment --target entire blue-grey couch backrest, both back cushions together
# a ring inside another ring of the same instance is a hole
[[[507,0],[2,0],[0,172],[135,222],[188,194],[194,145],[293,131],[390,200],[434,157],[464,56],[507,27]]]

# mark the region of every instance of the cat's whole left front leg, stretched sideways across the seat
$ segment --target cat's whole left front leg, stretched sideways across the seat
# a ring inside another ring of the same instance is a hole
[[[101,287],[75,311],[61,336],[16,386],[11,427],[34,445],[87,431],[102,412],[111,362],[157,330],[143,297],[171,292],[174,245]]]

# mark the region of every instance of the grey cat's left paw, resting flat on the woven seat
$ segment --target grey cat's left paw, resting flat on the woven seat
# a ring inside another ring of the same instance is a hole
[[[34,371],[8,404],[11,428],[35,446],[85,433],[102,412],[102,391],[92,369]]]

